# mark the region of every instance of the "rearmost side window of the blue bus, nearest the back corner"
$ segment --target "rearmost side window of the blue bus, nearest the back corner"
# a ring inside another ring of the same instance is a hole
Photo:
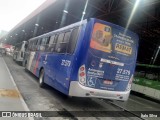
[[[77,43],[77,39],[78,39],[78,31],[79,31],[79,27],[72,30],[67,53],[72,54],[74,52],[74,49],[75,49],[76,43]]]

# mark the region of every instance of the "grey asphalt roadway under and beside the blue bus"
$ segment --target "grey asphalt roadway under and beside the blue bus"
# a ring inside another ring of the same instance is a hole
[[[46,87],[42,89],[38,85],[38,79],[34,77],[30,72],[26,72],[24,67],[15,63],[10,57],[5,57],[5,62],[11,71],[11,74],[15,80],[15,83],[21,92],[27,106],[31,111],[66,111],[70,114],[70,111],[121,111],[120,108],[115,107],[110,104],[108,100],[101,99],[90,99],[90,98],[68,98],[65,95],[59,93],[51,87]],[[151,102],[134,95],[130,96],[127,102],[114,101],[114,104],[122,106],[128,110],[132,111],[153,111],[159,110],[160,105],[156,102]],[[103,113],[98,112],[99,116],[105,116]],[[83,120],[137,120],[136,117],[94,117],[90,113],[88,116],[91,117],[63,117],[59,112],[57,112],[55,118],[43,118],[45,120],[52,119],[83,119]],[[36,120],[41,120],[40,118],[35,118]],[[43,120],[42,119],[42,120]],[[154,119],[153,119],[154,120]],[[158,119],[157,119],[158,120]]]

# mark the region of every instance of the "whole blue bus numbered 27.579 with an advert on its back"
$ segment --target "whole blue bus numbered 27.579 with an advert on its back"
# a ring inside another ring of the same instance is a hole
[[[126,101],[131,90],[138,36],[99,19],[83,20],[31,38],[26,69],[39,85],[68,96]]]

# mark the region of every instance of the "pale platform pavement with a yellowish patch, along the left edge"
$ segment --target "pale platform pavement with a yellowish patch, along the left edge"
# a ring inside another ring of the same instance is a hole
[[[0,111],[28,110],[29,109],[17,89],[4,59],[0,57]],[[3,115],[5,116],[6,114],[3,113]],[[0,119],[2,120],[2,118]],[[17,118],[14,120],[17,120]],[[25,120],[29,119],[26,118]]]

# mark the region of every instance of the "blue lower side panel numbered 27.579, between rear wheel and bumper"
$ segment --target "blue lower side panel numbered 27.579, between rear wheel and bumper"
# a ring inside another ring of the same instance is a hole
[[[41,62],[41,66],[44,66],[45,70],[44,82],[66,95],[69,91],[72,59],[71,55],[48,53],[45,64]]]

